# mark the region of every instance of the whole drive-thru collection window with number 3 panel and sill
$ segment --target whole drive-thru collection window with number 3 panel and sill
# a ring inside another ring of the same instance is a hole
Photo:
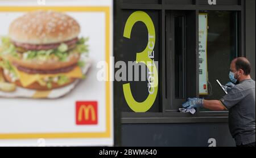
[[[123,123],[226,122],[228,112],[205,109],[197,109],[193,118],[179,119],[189,114],[178,113],[178,108],[188,97],[220,99],[225,94],[216,79],[227,83],[232,59],[246,55],[245,1],[120,0],[114,11],[115,62],[127,65],[125,80],[114,83],[114,101],[122,111]],[[146,56],[158,67],[154,93],[149,84],[152,74],[138,61],[147,47],[152,50]],[[139,69],[139,79],[129,78],[129,69]],[[141,109],[133,108],[135,105]]]

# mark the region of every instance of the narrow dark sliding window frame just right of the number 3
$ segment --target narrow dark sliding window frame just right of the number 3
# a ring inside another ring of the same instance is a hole
[[[175,17],[176,16],[183,16],[184,18],[184,24],[183,24],[183,42],[184,42],[184,47],[183,47],[183,75],[184,75],[184,80],[183,80],[183,84],[184,84],[184,99],[176,99],[175,97]],[[168,100],[168,104],[166,106],[166,111],[168,112],[176,112],[176,110],[173,109],[177,109],[179,105],[181,105],[181,103],[184,103],[186,101],[187,98],[187,51],[186,51],[186,47],[187,47],[187,31],[186,31],[186,14],[184,13],[184,11],[168,11],[166,14],[166,98]],[[174,39],[174,40],[169,40],[169,39]],[[170,70],[168,70],[168,68],[171,68]]]

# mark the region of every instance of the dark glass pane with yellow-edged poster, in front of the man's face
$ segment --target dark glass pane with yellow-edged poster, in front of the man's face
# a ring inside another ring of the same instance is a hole
[[[221,84],[229,82],[230,62],[238,54],[236,12],[207,11],[199,15],[199,51],[199,89],[204,89],[200,97],[220,99],[225,93],[216,79]]]

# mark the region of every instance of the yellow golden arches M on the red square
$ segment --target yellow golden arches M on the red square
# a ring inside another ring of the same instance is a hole
[[[78,113],[78,121],[82,121],[82,113],[84,113],[84,120],[88,120],[89,119],[89,112],[90,112],[90,116],[92,118],[92,121],[96,121],[96,113],[95,110],[93,108],[93,105],[81,105],[79,108],[79,113]]]

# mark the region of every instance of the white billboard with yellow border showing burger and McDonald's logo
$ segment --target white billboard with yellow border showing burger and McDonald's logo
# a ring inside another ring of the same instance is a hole
[[[113,146],[112,6],[0,3],[0,146]]]

